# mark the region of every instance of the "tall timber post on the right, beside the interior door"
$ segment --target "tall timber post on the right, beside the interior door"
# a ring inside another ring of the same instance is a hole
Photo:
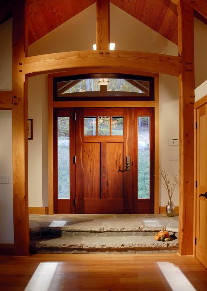
[[[178,47],[183,58],[179,76],[180,189],[179,254],[193,254],[193,103],[195,101],[193,8],[178,3]]]

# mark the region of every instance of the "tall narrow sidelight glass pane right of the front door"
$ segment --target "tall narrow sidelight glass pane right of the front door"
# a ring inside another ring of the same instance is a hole
[[[138,198],[149,198],[149,116],[138,117]]]

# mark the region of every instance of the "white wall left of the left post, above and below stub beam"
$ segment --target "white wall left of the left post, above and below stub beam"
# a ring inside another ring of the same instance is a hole
[[[0,91],[11,91],[12,19],[0,25],[0,40]],[[12,120],[10,110],[0,110],[0,175],[10,176],[10,184],[0,185],[0,243],[13,243]]]

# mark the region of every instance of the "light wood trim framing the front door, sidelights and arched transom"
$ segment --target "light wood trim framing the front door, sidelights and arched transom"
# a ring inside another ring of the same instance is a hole
[[[112,73],[124,73],[124,69],[111,69]],[[49,214],[53,214],[53,108],[78,108],[78,107],[108,107],[108,101],[65,101],[52,102],[52,78],[61,76],[71,76],[73,74],[100,73],[101,69],[84,69],[75,71],[66,71],[53,73],[48,75],[48,206]],[[102,73],[107,73],[104,69]],[[141,71],[133,71],[134,75],[152,76],[155,78],[155,101],[119,101],[120,107],[154,107],[155,108],[155,161],[160,160],[160,130],[159,130],[159,75],[155,73],[147,73]],[[117,102],[110,101],[110,107],[117,107]],[[159,168],[155,167],[155,176],[159,177]],[[155,214],[159,214],[160,203],[160,183],[159,179],[155,178]]]

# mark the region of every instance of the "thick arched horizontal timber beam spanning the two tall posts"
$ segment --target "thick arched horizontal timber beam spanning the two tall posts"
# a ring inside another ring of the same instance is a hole
[[[126,70],[179,76],[183,70],[183,59],[149,52],[76,51],[27,57],[22,60],[18,69],[22,71],[22,74],[35,76],[62,72],[72,68],[108,69],[109,73],[111,68],[125,68]]]

